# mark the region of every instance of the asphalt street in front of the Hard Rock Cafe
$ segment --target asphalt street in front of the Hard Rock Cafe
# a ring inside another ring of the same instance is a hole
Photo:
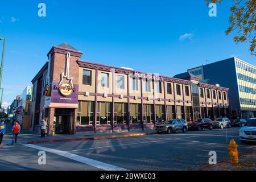
[[[208,165],[209,151],[217,162],[226,160],[234,138],[240,154],[256,150],[242,144],[239,128],[187,133],[152,134],[102,140],[18,144],[2,146],[0,170],[200,170]],[[38,152],[46,151],[46,165],[38,164]],[[256,159],[255,159],[256,160]]]

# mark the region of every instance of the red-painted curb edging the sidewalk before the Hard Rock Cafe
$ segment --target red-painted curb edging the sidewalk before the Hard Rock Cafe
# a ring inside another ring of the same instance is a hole
[[[26,143],[35,144],[35,143],[49,143],[49,142],[71,142],[71,141],[81,141],[81,140],[101,140],[101,139],[109,139],[109,138],[138,137],[143,135],[150,135],[150,134],[138,133],[138,134],[110,135],[110,136],[102,136],[102,137],[52,139],[52,140],[29,141]]]

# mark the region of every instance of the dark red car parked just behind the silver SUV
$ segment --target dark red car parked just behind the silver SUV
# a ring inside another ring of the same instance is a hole
[[[188,130],[198,130],[201,131],[203,129],[213,129],[213,122],[209,118],[197,119],[196,121],[192,121],[188,123]]]

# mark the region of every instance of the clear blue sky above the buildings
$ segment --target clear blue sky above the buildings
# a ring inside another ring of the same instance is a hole
[[[40,2],[46,17],[38,16]],[[82,60],[166,76],[232,56],[255,65],[248,44],[224,34],[230,5],[217,5],[217,17],[210,17],[204,0],[3,1],[3,104],[31,85],[49,49],[63,42],[84,52]]]

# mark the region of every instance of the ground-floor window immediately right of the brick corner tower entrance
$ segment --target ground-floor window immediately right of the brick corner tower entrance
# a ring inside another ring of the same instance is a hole
[[[76,125],[93,125],[94,102],[79,101],[77,108]]]

